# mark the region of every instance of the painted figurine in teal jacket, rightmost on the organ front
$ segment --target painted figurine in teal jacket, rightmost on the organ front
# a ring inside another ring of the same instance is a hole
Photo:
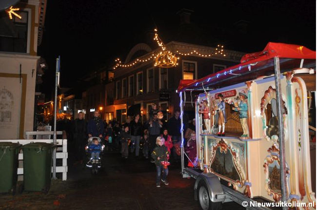
[[[248,102],[247,99],[248,96],[245,95],[244,93],[239,93],[239,99],[240,102],[237,107],[232,108],[233,111],[239,112],[239,118],[240,118],[240,123],[243,129],[243,134],[241,137],[248,137],[248,123],[247,123],[247,118],[248,118]]]

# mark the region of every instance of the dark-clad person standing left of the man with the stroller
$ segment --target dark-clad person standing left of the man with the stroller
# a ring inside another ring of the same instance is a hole
[[[87,143],[86,122],[83,118],[84,114],[79,112],[78,118],[74,121],[74,139],[75,139],[75,158],[77,165],[79,162],[82,164],[82,159],[85,155],[85,145]]]

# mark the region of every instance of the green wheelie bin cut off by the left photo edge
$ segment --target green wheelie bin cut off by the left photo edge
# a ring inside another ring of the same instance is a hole
[[[19,143],[0,142],[0,192],[16,192]]]

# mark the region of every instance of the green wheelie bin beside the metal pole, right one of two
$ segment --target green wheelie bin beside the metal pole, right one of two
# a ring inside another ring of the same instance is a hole
[[[43,142],[31,142],[22,146],[24,191],[49,191],[54,148],[53,144]]]

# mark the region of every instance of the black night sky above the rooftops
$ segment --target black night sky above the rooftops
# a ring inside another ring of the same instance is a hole
[[[261,51],[267,42],[273,41],[316,50],[315,0],[208,1],[211,5],[205,2],[48,0],[45,31],[38,49],[39,56],[49,65],[43,76],[42,92],[48,96],[52,93],[55,60],[59,55],[61,87],[72,87],[80,77],[101,66],[111,69],[115,58],[124,60],[140,42],[153,49],[157,47],[153,41],[156,27],[165,43],[187,38],[188,43],[215,47],[221,42],[225,49],[251,53]],[[182,8],[194,11],[191,22],[197,36],[193,40],[190,31],[178,31],[181,27],[177,12]],[[232,30],[241,19],[249,22],[243,41]],[[200,32],[210,38],[199,43]]]

